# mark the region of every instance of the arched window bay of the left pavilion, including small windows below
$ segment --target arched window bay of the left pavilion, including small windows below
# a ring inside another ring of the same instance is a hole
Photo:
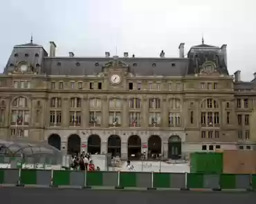
[[[28,99],[20,96],[12,101],[10,130],[11,136],[28,136],[28,125],[30,123],[30,110]]]

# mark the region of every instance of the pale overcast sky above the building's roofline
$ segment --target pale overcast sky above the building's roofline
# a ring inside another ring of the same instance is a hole
[[[256,72],[255,0],[8,0],[0,3],[0,69],[15,44],[57,44],[57,55],[178,57],[201,43],[228,45],[230,74]]]

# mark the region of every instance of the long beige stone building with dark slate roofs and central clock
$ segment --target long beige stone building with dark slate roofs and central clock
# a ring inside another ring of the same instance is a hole
[[[56,57],[55,48],[13,48],[0,75],[0,139],[48,141],[64,153],[99,146],[124,158],[129,148],[163,158],[255,148],[256,83],[230,76],[226,45],[193,46],[188,58],[183,43],[176,58]]]

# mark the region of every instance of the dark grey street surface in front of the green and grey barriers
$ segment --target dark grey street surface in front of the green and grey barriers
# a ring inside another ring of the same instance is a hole
[[[255,203],[256,192],[180,192],[129,190],[58,190],[47,188],[1,187],[1,203],[62,203],[77,202],[105,204],[146,203]]]

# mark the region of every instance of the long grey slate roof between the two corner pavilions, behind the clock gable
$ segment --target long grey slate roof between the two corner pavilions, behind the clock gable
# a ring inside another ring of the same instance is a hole
[[[104,64],[113,58],[44,58],[43,70],[48,75],[94,75],[102,72]],[[118,58],[129,65],[136,76],[183,76],[188,68],[188,59],[175,58]],[[98,63],[98,66],[95,65]]]

